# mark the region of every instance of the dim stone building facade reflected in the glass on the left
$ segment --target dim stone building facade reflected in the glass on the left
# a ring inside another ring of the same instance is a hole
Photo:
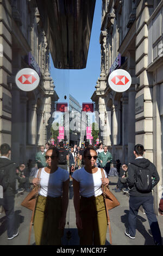
[[[0,1],[0,143],[11,145],[17,163],[34,160],[39,145],[50,139],[54,101],[58,95],[49,73],[49,48],[35,1]],[[39,86],[23,92],[15,84],[17,72],[32,68]]]

